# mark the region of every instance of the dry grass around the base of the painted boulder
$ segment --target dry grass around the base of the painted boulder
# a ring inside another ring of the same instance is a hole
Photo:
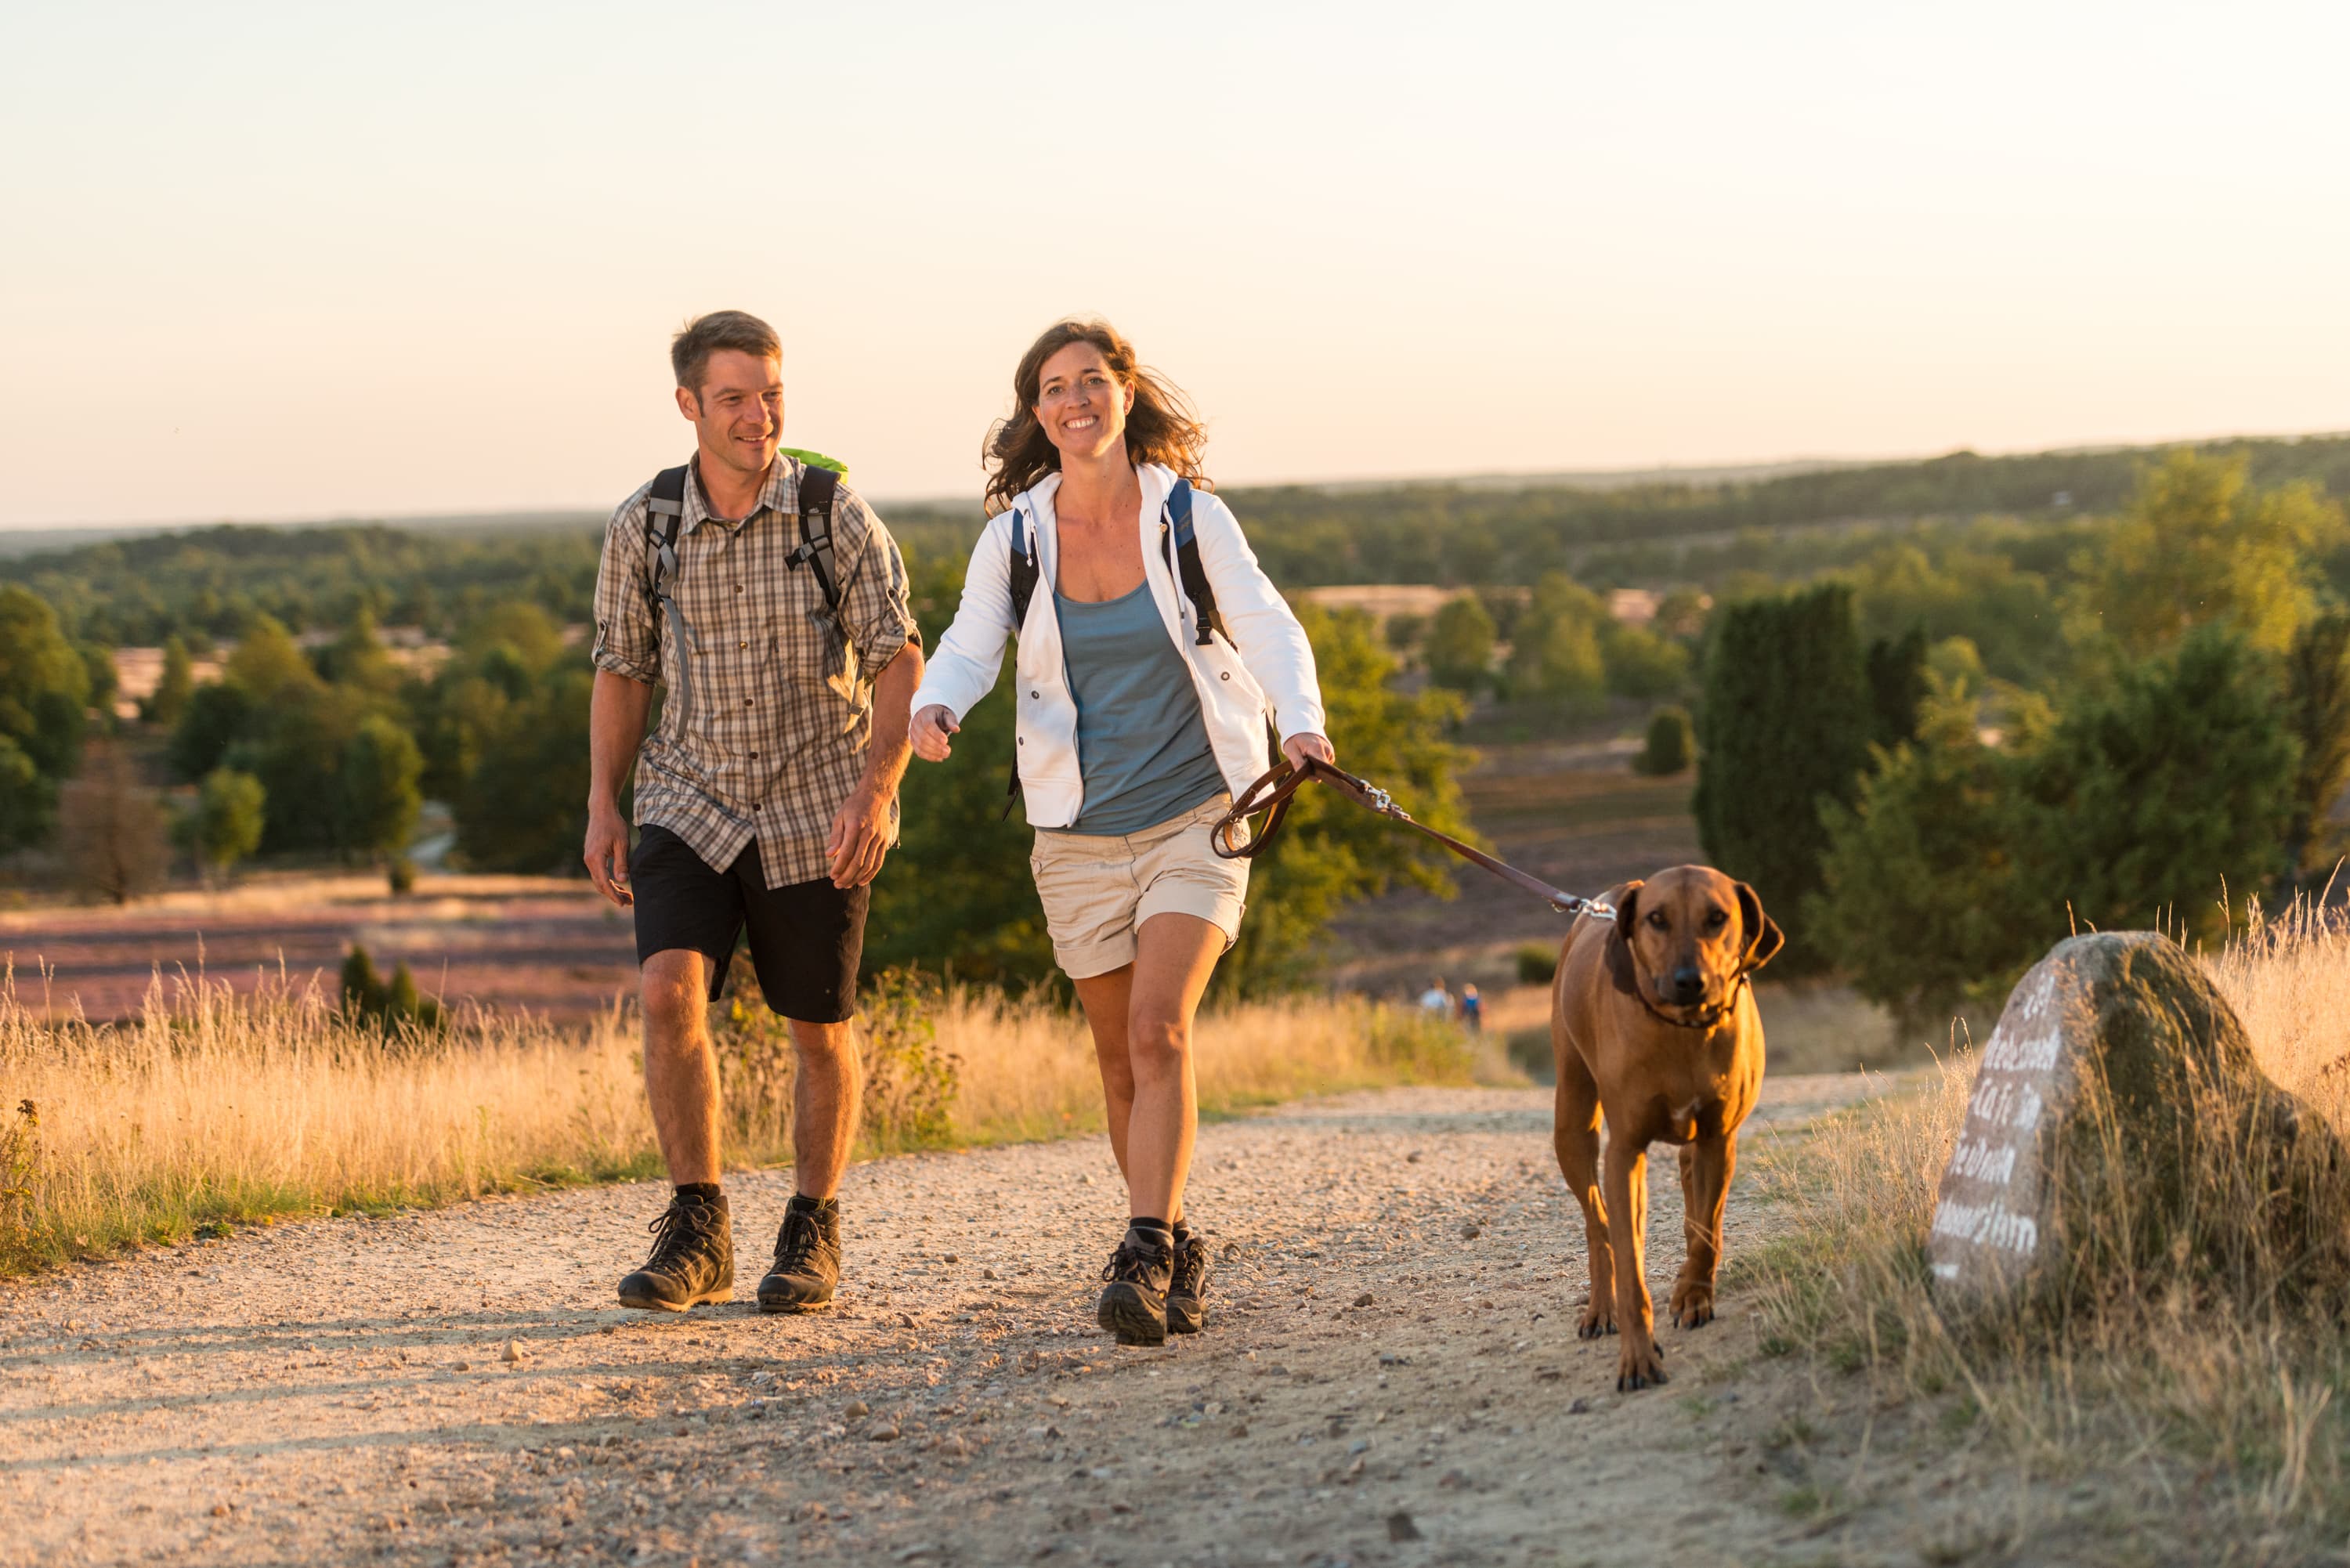
[[[2308,910],[2256,919],[2207,971],[2261,1067],[2350,1131],[2350,929]],[[2068,1293],[1946,1319],[1925,1237],[1972,1077],[1972,1053],[1955,1056],[1915,1093],[1758,1159],[1762,1190],[1800,1227],[1741,1269],[1762,1295],[1765,1349],[1821,1368],[1824,1410],[1875,1420],[1866,1413],[1932,1401],[1946,1436],[2012,1479],[2117,1488],[2117,1540],[2155,1561],[2193,1556],[2190,1537],[2338,1542],[2350,1425],[2334,1389],[2350,1375],[2350,1331],[2310,1272],[2324,1248],[2265,1246],[2249,1222],[2242,1190],[2261,1152],[2211,1138],[2190,1166],[2193,1246],[2186,1234],[2164,1251],[2124,1239],[2146,1206],[2124,1213],[2122,1197],[2099,1218],[2110,1229],[2089,1239],[2099,1265],[2075,1267]],[[2230,1126],[2232,1112],[2214,1105],[2200,1124]],[[2341,1173],[2315,1190],[2317,1234],[2350,1237]]]

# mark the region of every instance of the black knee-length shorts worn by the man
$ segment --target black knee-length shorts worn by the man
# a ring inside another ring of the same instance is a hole
[[[646,827],[627,858],[637,893],[637,964],[684,947],[710,959],[710,999],[726,990],[736,938],[750,926],[750,961],[766,1004],[801,1023],[846,1023],[858,1009],[865,905],[872,886],[837,889],[830,877],[766,886],[759,839],[724,872],[667,827]]]

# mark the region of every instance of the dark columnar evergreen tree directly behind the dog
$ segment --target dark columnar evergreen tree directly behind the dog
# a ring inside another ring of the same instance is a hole
[[[1819,966],[1802,931],[1828,846],[1826,802],[1849,804],[1868,764],[1868,689],[1842,583],[1716,616],[1699,715],[1697,832],[1786,931],[1781,964]]]

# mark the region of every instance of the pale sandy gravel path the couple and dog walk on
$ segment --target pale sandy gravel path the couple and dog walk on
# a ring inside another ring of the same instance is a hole
[[[1866,1093],[1765,1086],[1751,1138]],[[1668,1171],[1668,1164],[1664,1166]],[[0,1293],[0,1563],[1817,1561],[1751,1305],[1614,1394],[1542,1091],[1203,1128],[1208,1333],[1116,1349],[1100,1138],[858,1166],[827,1314],[620,1312],[649,1185],[320,1220]],[[1654,1187],[1650,1281],[1680,1258]],[[1770,1234],[1739,1187],[1730,1253]],[[1471,1234],[1473,1232],[1473,1234]],[[1784,1375],[1784,1373],[1777,1373]],[[1744,1401],[1744,1403],[1741,1403]],[[1911,1559],[1915,1561],[1915,1559]]]

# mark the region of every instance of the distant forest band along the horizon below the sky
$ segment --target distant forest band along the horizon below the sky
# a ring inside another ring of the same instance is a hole
[[[2235,440],[2256,487],[2310,482],[2350,496],[2350,437]],[[2005,520],[1998,552],[2023,571],[2059,569],[2117,512],[2153,449],[1986,458],[1969,451],[1725,484],[1396,484],[1224,491],[1267,571],[1285,588],[1330,583],[1532,583],[1570,571],[1593,588],[1774,578],[1849,567],[1887,536]],[[916,562],[961,564],[978,508],[900,505],[888,522]],[[134,536],[0,559],[66,632],[94,644],[169,635],[233,639],[256,614],[294,630],[381,625],[454,632],[496,604],[529,599],[585,621],[592,529],[416,531],[385,524],[237,527]],[[2350,583],[2350,562],[2329,576]]]

